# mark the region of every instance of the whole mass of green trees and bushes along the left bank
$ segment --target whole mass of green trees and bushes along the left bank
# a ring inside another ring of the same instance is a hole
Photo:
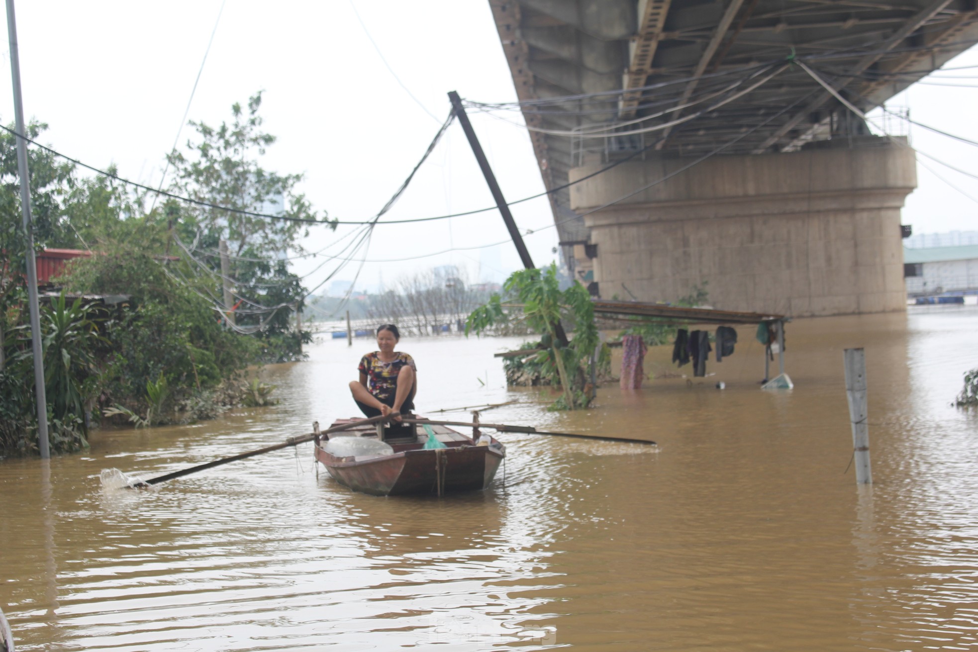
[[[282,255],[301,250],[307,225],[246,211],[299,220],[317,215],[294,192],[300,175],[259,165],[275,142],[261,130],[260,105],[258,94],[245,108],[235,105],[232,120],[220,127],[192,123],[197,136],[189,152],[168,156],[174,193],[231,211],[174,200],[156,205],[111,177],[82,178],[73,163],[28,151],[37,250],[92,252],[68,264],[56,282],[62,294],[41,306],[52,450],[86,447],[99,421],[187,422],[242,403],[269,405],[274,388],[244,382],[244,369],[301,358],[311,335],[297,331],[292,316],[306,289]],[[45,128],[32,123],[28,135],[36,140]],[[37,448],[37,420],[10,134],[0,136],[0,177],[8,216],[0,228],[0,455],[29,454]],[[221,240],[231,242],[226,271]],[[234,307],[222,301],[225,279],[237,304],[234,319],[227,316]],[[98,298],[106,295],[123,298]]]

